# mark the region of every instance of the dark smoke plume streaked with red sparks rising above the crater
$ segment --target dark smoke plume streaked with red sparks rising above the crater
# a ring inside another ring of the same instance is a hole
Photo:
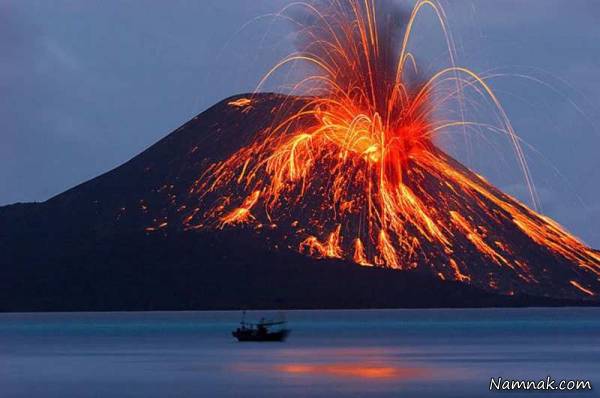
[[[304,75],[328,75],[348,92],[356,89],[356,82],[362,79],[363,91],[373,94],[371,108],[385,113],[397,80],[410,12],[392,0],[316,0],[291,9],[288,16],[295,29],[294,46],[298,54],[323,60],[335,68],[324,71],[314,64],[300,62]],[[348,59],[348,55],[352,58]],[[409,91],[416,90],[426,80],[410,66],[402,78]],[[303,94],[326,95],[327,91],[328,87],[317,82]]]

